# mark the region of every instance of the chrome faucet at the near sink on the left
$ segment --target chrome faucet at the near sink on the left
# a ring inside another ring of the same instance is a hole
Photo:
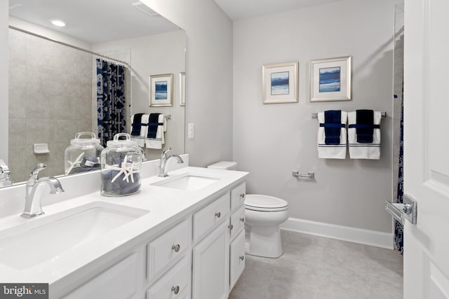
[[[46,165],[39,163],[34,167],[31,174],[29,174],[29,179],[27,181],[27,195],[25,196],[25,210],[23,211],[22,217],[32,218],[43,214],[41,206],[41,193],[42,185],[41,183],[48,183],[50,186],[50,194],[64,192],[60,181],[53,176],[46,176],[39,179],[39,172],[42,169],[46,169]]]

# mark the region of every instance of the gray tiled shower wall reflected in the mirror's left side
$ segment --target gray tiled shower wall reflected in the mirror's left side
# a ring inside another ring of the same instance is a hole
[[[64,174],[64,151],[91,130],[92,55],[9,29],[9,167],[15,183],[44,162]],[[50,153],[34,154],[33,144]]]

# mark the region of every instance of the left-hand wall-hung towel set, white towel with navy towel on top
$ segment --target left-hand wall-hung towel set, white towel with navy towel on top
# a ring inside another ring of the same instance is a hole
[[[337,122],[335,116],[339,114],[340,122]],[[325,159],[345,159],[347,112],[319,112],[318,121],[320,123],[318,128],[318,157]],[[328,121],[332,121],[333,123],[327,123]],[[326,136],[326,134],[330,136]]]

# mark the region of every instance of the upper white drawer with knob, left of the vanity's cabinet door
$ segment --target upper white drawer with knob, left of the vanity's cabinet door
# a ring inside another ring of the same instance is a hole
[[[170,263],[182,256],[190,245],[190,221],[182,221],[148,244],[147,279],[162,274]]]

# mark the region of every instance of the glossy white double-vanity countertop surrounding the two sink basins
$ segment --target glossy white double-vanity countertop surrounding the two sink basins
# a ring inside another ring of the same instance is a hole
[[[1,234],[2,231],[14,228],[16,225],[39,221],[60,211],[66,211],[67,209],[79,207],[91,202],[109,202],[149,211],[149,213],[140,216],[140,218],[136,218],[119,228],[105,233],[102,237],[86,241],[76,246],[76,248],[61,253],[57,258],[46,260],[25,270],[16,270],[7,265],[0,264],[0,281],[2,283],[32,281],[35,283],[43,282],[53,284],[92,263],[94,260],[99,261],[99,259],[101,260],[105,256],[109,256],[110,258],[110,254],[114,254],[114,256],[119,255],[122,252],[149,241],[159,235],[163,230],[172,227],[173,224],[180,221],[180,219],[189,213],[192,213],[195,209],[199,209],[199,207],[214,200],[226,188],[232,188],[242,183],[243,179],[248,175],[247,172],[199,167],[184,167],[169,172],[170,176],[186,173],[217,176],[220,179],[200,190],[187,191],[152,186],[151,183],[166,178],[151,176],[147,179],[142,179],[140,192],[134,195],[105,197],[100,195],[99,186],[98,191],[94,193],[43,207],[43,211],[46,214],[36,218],[25,219],[20,217],[20,214],[0,218]],[[29,250],[32,250],[32,247],[33,244],[29,244]]]

